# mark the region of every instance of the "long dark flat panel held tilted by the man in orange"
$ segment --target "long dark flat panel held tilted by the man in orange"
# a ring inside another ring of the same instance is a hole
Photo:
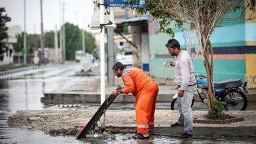
[[[118,86],[116,90],[119,90],[121,86]],[[106,109],[111,105],[111,103],[116,99],[116,96],[110,95],[104,103],[100,106],[98,111],[96,111],[95,115],[89,120],[85,128],[83,128],[82,132],[77,136],[76,139],[82,139],[86,137],[87,132],[93,127],[93,125],[100,119],[100,117],[105,113]]]

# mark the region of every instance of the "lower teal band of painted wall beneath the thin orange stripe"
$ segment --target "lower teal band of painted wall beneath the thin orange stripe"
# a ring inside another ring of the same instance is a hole
[[[166,58],[153,58],[150,60],[150,75],[165,79],[174,79],[174,67],[165,67],[162,65]],[[168,60],[174,61],[169,58]],[[192,59],[195,74],[201,73],[206,76],[205,67],[202,59]],[[245,60],[214,60],[214,81],[224,81],[227,79],[242,79],[245,81]]]

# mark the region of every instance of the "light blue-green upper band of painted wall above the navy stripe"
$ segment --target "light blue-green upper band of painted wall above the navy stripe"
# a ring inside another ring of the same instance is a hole
[[[164,33],[150,35],[150,54],[166,54],[165,43],[171,38]],[[181,48],[186,48],[181,31],[175,31],[175,39],[179,41]],[[245,24],[217,27],[210,39],[213,47],[245,46]]]

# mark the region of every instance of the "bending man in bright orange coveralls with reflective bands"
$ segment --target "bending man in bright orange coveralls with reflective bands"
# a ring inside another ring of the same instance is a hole
[[[125,87],[114,90],[112,94],[133,94],[136,97],[137,135],[134,139],[148,139],[149,130],[154,130],[154,114],[156,109],[156,96],[158,84],[141,69],[125,67],[117,62],[112,67],[117,77],[122,77]]]

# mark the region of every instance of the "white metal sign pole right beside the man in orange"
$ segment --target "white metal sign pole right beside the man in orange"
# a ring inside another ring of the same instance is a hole
[[[100,0],[100,24],[104,24],[104,0]],[[105,101],[105,27],[102,27],[100,33],[100,101]],[[105,114],[102,117],[102,128],[105,128]]]

